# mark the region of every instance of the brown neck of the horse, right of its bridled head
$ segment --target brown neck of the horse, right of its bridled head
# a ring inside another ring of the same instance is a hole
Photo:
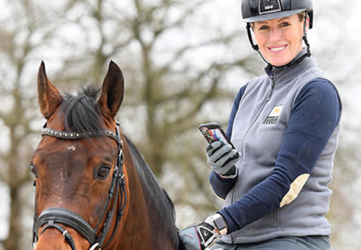
[[[124,146],[127,147],[126,144]],[[147,166],[140,166],[140,155],[131,155],[129,148],[124,148],[124,152],[128,152],[124,154],[128,204],[120,225],[122,230],[118,249],[175,249],[174,245],[178,244],[174,242],[176,227],[174,222],[169,225],[172,222],[164,216],[167,209],[163,209],[163,214],[158,211],[156,203],[160,202],[157,196],[159,190],[155,193],[151,190],[151,186],[155,185],[154,177],[150,172],[147,173]],[[138,158],[132,159],[134,157]],[[169,232],[169,229],[173,229],[173,232]]]

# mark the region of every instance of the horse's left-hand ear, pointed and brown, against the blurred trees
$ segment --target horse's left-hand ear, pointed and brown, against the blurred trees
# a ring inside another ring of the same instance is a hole
[[[46,76],[44,61],[41,61],[37,73],[37,98],[41,114],[43,114],[46,119],[55,113],[64,100],[59,90],[57,90]]]

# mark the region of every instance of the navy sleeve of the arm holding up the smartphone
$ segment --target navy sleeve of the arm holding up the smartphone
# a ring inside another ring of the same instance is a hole
[[[233,106],[232,106],[232,110],[230,113],[230,118],[228,119],[228,126],[227,126],[227,131],[225,132],[228,138],[231,138],[232,136],[232,127],[233,127],[233,122],[234,122],[234,117],[236,116],[238,107],[239,107],[239,102],[241,102],[242,96],[244,91],[246,90],[247,84],[245,86],[243,86],[242,88],[239,89],[239,92],[237,93],[236,98],[234,99],[233,102]],[[236,183],[237,178],[230,178],[230,179],[225,179],[221,176],[219,176],[216,172],[212,171],[210,173],[210,184],[212,186],[212,189],[214,191],[214,193],[216,193],[216,195],[219,198],[225,199],[225,196],[227,196],[228,192],[232,189],[232,187],[234,186],[234,183]]]

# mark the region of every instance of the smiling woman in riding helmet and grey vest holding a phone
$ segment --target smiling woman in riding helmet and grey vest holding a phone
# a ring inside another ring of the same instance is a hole
[[[311,57],[312,1],[242,0],[242,15],[266,75],[234,100],[227,134],[239,159],[230,161],[237,151],[219,142],[206,150],[223,209],[180,238],[186,249],[215,238],[210,249],[332,249],[325,215],[342,104]]]

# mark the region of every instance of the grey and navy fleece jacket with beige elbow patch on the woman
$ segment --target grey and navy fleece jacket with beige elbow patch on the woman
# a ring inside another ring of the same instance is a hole
[[[341,110],[335,86],[312,57],[267,66],[266,75],[239,90],[227,128],[241,155],[238,175],[210,174],[214,193],[225,199],[224,242],[331,233],[324,215]]]

